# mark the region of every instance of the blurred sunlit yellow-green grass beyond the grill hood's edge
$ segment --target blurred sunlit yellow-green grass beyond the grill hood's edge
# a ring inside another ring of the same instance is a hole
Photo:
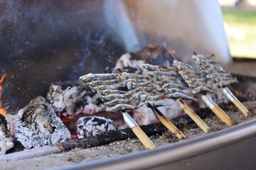
[[[256,10],[246,8],[223,8],[226,23],[245,31],[245,38],[229,38],[230,53],[233,57],[256,58]]]

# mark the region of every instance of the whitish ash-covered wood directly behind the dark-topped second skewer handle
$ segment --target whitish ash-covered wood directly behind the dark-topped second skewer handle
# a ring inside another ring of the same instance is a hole
[[[176,118],[179,115],[182,115],[182,110],[180,107],[180,104],[177,100],[171,99],[171,98],[164,98],[160,99],[159,102],[166,103],[166,106],[159,107],[159,111],[163,113],[166,118],[172,119]],[[149,125],[151,123],[158,122],[158,119],[154,115],[154,113],[151,111],[150,108],[147,108],[146,106],[142,106],[141,108],[134,110],[134,115],[132,116],[139,125]]]

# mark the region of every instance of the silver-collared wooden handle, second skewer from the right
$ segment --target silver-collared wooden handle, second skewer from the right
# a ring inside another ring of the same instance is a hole
[[[213,113],[215,113],[215,115],[217,115],[221,121],[223,121],[223,123],[227,125],[233,125],[233,120],[231,120],[231,118],[220,108],[220,106],[218,106],[213,101],[212,98],[210,98],[210,96],[208,96],[208,94],[203,95],[202,99],[204,103],[206,103],[206,105],[210,108],[210,110],[213,111]]]

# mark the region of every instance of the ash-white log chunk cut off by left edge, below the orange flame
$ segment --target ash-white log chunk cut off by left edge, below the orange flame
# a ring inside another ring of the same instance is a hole
[[[0,154],[6,154],[14,147],[14,137],[10,133],[10,123],[0,114]]]

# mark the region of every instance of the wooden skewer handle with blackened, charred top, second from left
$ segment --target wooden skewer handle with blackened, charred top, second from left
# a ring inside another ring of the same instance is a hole
[[[174,123],[171,123],[171,121],[166,118],[161,111],[159,111],[157,108],[153,107],[151,108],[154,115],[156,115],[156,118],[166,127],[168,128],[178,139],[186,138],[186,136],[179,130]]]

